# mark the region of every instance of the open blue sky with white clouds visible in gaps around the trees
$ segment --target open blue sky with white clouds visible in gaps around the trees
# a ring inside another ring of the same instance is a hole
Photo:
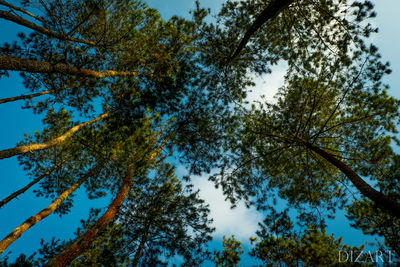
[[[187,11],[194,6],[192,0],[148,0],[151,7],[159,9],[163,18],[167,19],[171,15],[186,16]],[[222,0],[201,0],[205,7],[211,7],[213,11],[223,2]],[[398,0],[379,0],[376,2],[378,17],[375,19],[380,32],[375,36],[374,42],[378,45],[385,60],[392,64],[393,73],[387,78],[391,85],[390,93],[400,97],[400,53],[398,44],[400,36],[398,25],[400,25],[400,1]],[[25,31],[22,27],[0,20],[2,42],[15,40],[16,33]],[[254,93],[250,95],[251,100],[257,99],[259,95],[264,94],[267,98],[273,96],[276,88],[283,82],[284,65],[277,66],[275,71],[268,76],[258,77]],[[10,78],[0,80],[0,98],[16,96],[25,93],[22,79],[19,75],[12,73]],[[21,109],[23,102],[9,103],[0,105],[0,121],[2,130],[0,131],[0,149],[6,149],[15,146],[15,144],[24,138],[24,133],[33,134],[34,130],[41,129],[41,116],[33,115],[30,110]],[[15,158],[0,161],[0,198],[9,195],[18,190],[28,182],[21,167]],[[178,174],[184,173],[183,169]],[[216,239],[213,247],[218,247],[222,235],[235,234],[241,241],[247,242],[249,235],[254,233],[257,228],[257,222],[262,220],[262,214],[254,209],[246,209],[239,205],[235,210],[229,209],[229,204],[223,201],[221,193],[214,189],[213,185],[206,181],[206,177],[197,177],[194,184],[200,188],[201,196],[211,205],[211,214],[215,220]],[[9,205],[0,209],[0,238],[7,235],[14,227],[22,223],[32,214],[37,213],[46,207],[50,202],[48,199],[34,197],[33,190],[29,190],[18,200],[12,201]],[[40,239],[49,240],[56,236],[61,239],[72,236],[74,230],[79,226],[79,220],[86,218],[90,207],[105,207],[108,205],[108,199],[88,200],[85,192],[78,191],[79,206],[76,205],[72,212],[60,219],[56,215],[51,215],[45,220],[28,230],[20,239],[18,239],[9,250],[13,251],[10,255],[14,258],[19,253],[31,254],[40,244]],[[342,236],[343,241],[359,245],[365,241],[371,241],[370,238],[363,236],[359,231],[348,226],[348,221],[343,215],[338,215],[335,221],[329,224],[328,232],[334,232],[335,236]],[[243,266],[246,266],[243,262]]]

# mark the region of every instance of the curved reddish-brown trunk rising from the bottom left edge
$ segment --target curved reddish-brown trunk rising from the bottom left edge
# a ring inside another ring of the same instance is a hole
[[[168,142],[166,138],[161,145],[154,151],[146,162],[153,161],[162,151],[165,144]],[[80,238],[70,244],[61,253],[51,259],[45,266],[67,266],[79,255],[81,255],[95,240],[98,234],[107,227],[107,225],[114,219],[115,215],[119,211],[121,205],[124,203],[128,193],[132,187],[133,177],[132,177],[133,166],[129,166],[126,172],[126,176],[122,182],[121,187],[118,190],[117,196],[114,198],[113,202],[108,206],[107,211],[100,217],[100,219]]]

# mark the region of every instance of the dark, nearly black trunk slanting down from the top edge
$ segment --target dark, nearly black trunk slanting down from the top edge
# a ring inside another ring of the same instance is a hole
[[[242,40],[240,41],[239,45],[237,46],[235,52],[230,57],[230,60],[235,59],[240,54],[240,52],[243,50],[243,48],[249,42],[251,36],[258,29],[260,29],[261,26],[264,25],[264,23],[274,19],[276,16],[279,15],[279,13],[284,8],[286,8],[288,5],[290,5],[293,2],[294,2],[294,0],[272,0],[268,4],[268,6],[263,11],[261,11],[261,13],[257,16],[256,20],[253,22],[253,24],[250,26],[250,28],[246,31]]]

